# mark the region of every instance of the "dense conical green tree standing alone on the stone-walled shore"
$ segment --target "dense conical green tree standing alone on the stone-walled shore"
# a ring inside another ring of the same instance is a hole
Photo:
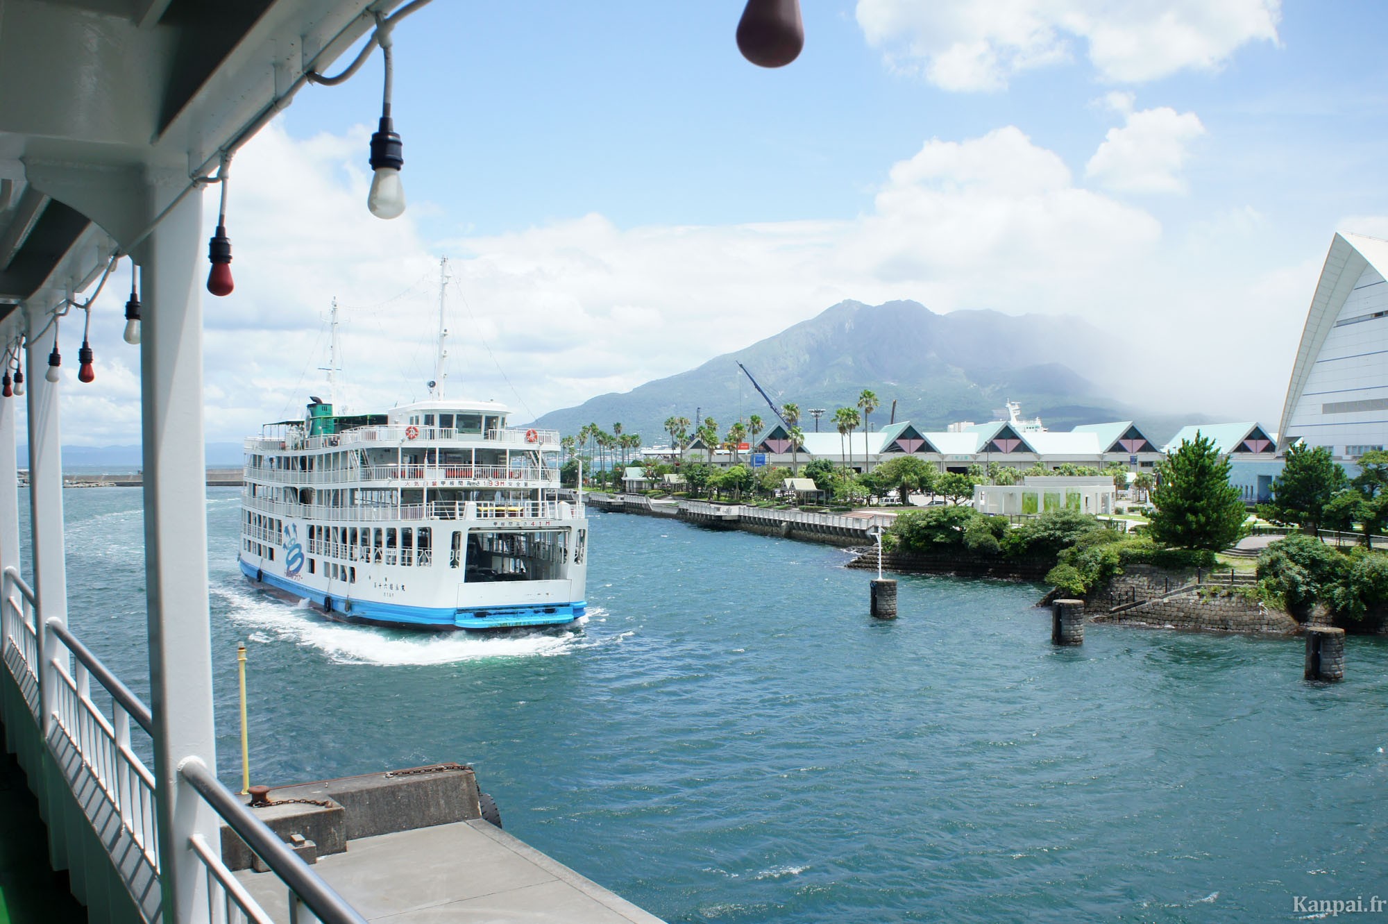
[[[1219,551],[1238,540],[1248,513],[1228,483],[1228,459],[1214,441],[1195,431],[1158,465],[1148,531],[1163,545]]]

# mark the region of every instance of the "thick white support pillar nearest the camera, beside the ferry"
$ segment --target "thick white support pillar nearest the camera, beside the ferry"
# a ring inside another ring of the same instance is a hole
[[[203,268],[201,219],[201,197],[186,197],[136,253],[144,282],[144,576],[160,875],[164,920],[178,924],[208,920],[207,882],[189,838],[201,834],[214,850],[221,844],[217,814],[178,771],[190,756],[217,766],[207,604],[203,300],[197,279]]]

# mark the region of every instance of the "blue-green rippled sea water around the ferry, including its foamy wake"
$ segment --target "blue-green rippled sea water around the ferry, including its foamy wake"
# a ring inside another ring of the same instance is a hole
[[[71,622],[147,688],[140,493],[69,490]],[[1264,921],[1388,898],[1388,644],[1087,628],[1037,585],[869,574],[819,545],[593,516],[569,631],[326,623],[236,570],[211,490],[218,763],[294,782],[476,766],[507,830],[670,921]],[[1367,916],[1366,916],[1367,917]],[[1371,918],[1370,918],[1371,920]]]

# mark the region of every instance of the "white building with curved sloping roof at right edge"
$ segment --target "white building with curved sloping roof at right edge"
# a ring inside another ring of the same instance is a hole
[[[1338,233],[1316,283],[1277,427],[1353,462],[1388,445],[1388,241]]]

